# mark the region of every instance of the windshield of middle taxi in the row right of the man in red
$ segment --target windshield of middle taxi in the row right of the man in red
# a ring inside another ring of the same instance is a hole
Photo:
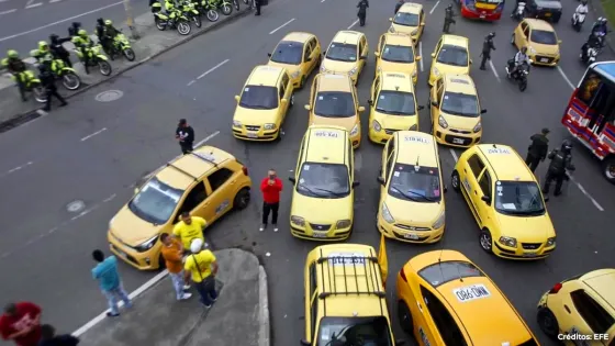
[[[439,202],[441,193],[438,168],[396,164],[391,175],[389,194],[413,202]]]

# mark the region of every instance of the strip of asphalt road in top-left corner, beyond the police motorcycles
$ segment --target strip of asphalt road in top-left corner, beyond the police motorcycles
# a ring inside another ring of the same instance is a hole
[[[18,49],[23,57],[52,33],[68,35],[72,22],[92,33],[97,18],[126,21],[123,0],[0,0],[0,55]],[[148,11],[148,0],[130,0],[133,15]]]

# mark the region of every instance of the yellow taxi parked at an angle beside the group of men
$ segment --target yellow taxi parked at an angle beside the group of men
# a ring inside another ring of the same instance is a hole
[[[165,266],[160,233],[172,233],[183,212],[211,225],[250,200],[248,169],[233,155],[202,146],[155,171],[111,219],[107,238],[111,252],[137,269]]]

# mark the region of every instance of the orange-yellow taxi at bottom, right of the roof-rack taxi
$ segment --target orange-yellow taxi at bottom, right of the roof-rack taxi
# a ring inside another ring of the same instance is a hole
[[[402,328],[420,345],[538,346],[504,293],[461,253],[435,250],[398,274]]]

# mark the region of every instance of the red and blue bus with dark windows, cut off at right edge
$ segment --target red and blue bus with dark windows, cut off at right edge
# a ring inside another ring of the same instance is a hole
[[[602,160],[602,174],[615,183],[615,62],[590,65],[561,123]]]

